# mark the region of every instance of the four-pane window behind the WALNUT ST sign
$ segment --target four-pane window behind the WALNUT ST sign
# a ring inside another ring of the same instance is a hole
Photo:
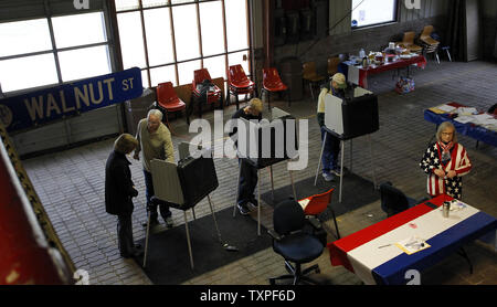
[[[0,23],[3,92],[112,72],[103,12]]]

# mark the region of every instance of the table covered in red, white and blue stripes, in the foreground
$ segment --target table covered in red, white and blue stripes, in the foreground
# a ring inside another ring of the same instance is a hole
[[[405,284],[405,273],[436,264],[476,239],[496,244],[497,220],[476,208],[451,211],[443,218],[441,205],[453,200],[440,195],[341,240],[328,243],[331,265],[342,265],[364,284]],[[430,247],[408,255],[395,243],[422,237]]]

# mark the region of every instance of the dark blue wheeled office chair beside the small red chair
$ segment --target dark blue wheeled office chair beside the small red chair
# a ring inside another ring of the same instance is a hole
[[[298,283],[317,284],[305,276],[310,272],[319,273],[319,266],[313,265],[302,271],[302,264],[318,258],[324,250],[324,244],[309,232],[304,231],[309,221],[315,229],[320,223],[314,219],[306,219],[304,210],[295,200],[281,202],[273,212],[274,230],[269,230],[273,236],[273,250],[285,258],[285,267],[290,273],[269,278],[269,284],[275,285],[278,279],[293,279],[293,285]],[[290,263],[295,263],[293,266]]]

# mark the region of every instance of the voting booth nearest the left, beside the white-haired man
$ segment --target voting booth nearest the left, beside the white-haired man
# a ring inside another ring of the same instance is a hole
[[[155,195],[151,201],[154,204],[168,204],[171,208],[183,211],[184,227],[187,231],[188,251],[190,254],[190,265],[193,268],[193,255],[191,252],[190,232],[188,229],[187,210],[192,209],[194,218],[194,207],[205,197],[209,200],[212,218],[214,220],[215,230],[218,231],[219,240],[221,241],[221,233],[215,221],[213,204],[210,193],[218,187],[218,176],[215,173],[214,160],[210,149],[199,149],[193,158],[186,151],[189,145],[180,145],[180,161],[178,165],[168,162],[166,160],[151,160],[150,168],[154,181]],[[144,267],[147,261],[148,236],[150,230],[150,213],[147,223],[147,236],[145,244]]]

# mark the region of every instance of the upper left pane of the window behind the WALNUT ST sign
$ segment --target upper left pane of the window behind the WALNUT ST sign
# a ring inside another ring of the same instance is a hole
[[[0,56],[52,50],[49,21],[34,19],[0,23]]]

